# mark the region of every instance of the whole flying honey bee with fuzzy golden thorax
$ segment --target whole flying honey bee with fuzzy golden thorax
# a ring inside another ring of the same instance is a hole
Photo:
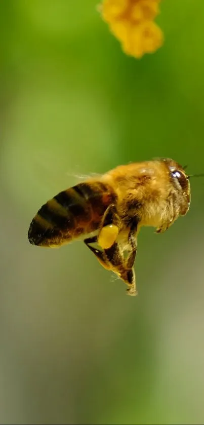
[[[32,245],[56,248],[84,240],[107,270],[136,295],[134,261],[142,226],[164,233],[190,206],[190,182],[172,159],[121,165],[61,191],[33,218]]]

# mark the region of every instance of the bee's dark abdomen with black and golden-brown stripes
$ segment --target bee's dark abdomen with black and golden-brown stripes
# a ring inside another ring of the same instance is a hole
[[[55,247],[89,234],[98,228],[114,200],[114,192],[100,181],[79,183],[64,190],[39,209],[30,224],[29,242]]]

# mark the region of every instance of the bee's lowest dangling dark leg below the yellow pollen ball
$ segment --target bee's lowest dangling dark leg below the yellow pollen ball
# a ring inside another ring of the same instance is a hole
[[[111,248],[105,249],[104,252],[108,262],[112,265],[113,272],[128,285],[128,295],[137,295],[134,268],[132,266],[127,268],[127,260],[124,260],[124,256],[120,252],[118,244],[114,243]],[[132,263],[134,263],[136,251],[134,255],[133,252],[131,252],[131,255],[132,257],[130,256],[129,258],[131,258]]]

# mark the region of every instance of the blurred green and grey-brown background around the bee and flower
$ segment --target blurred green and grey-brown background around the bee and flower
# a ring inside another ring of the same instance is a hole
[[[31,246],[80,176],[171,157],[204,171],[204,3],[164,0],[164,47],[125,56],[95,0],[3,0],[0,422],[204,421],[204,181],[164,235],[144,228],[136,298],[83,243]]]

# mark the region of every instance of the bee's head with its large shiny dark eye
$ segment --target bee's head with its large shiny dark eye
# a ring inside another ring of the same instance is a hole
[[[180,215],[185,215],[190,206],[190,182],[189,176],[185,172],[186,166],[182,167],[176,161],[169,158],[164,158],[162,161],[167,166],[170,182],[173,184],[180,200]]]

